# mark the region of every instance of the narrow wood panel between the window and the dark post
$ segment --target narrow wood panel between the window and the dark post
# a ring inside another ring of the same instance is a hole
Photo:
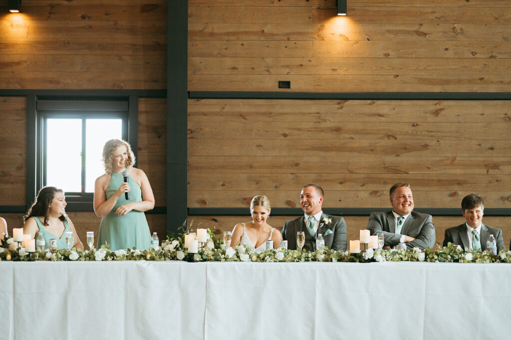
[[[167,100],[138,99],[138,161],[154,193],[155,206],[167,206]]]

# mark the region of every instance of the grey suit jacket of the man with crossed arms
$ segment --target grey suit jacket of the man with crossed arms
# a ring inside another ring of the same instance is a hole
[[[376,235],[383,231],[385,246],[396,246],[399,244],[401,235],[407,235],[415,238],[414,241],[407,242],[407,248],[417,247],[426,249],[433,248],[435,245],[435,227],[433,226],[431,215],[411,212],[406,218],[401,228],[401,234],[396,233],[396,218],[392,211],[386,213],[371,213],[367,229],[371,235]]]

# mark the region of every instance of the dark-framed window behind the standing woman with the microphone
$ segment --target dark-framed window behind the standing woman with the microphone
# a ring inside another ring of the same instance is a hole
[[[66,194],[67,211],[92,211],[94,184],[104,173],[103,146],[110,139],[135,138],[137,100],[37,98],[35,191],[54,186]],[[134,113],[133,113],[134,112]],[[136,156],[136,143],[130,142]],[[27,186],[29,198],[30,186]],[[34,198],[35,198],[34,193]]]

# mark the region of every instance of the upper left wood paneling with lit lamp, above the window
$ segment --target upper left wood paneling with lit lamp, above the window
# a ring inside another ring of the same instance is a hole
[[[166,4],[24,1],[0,17],[0,88],[165,89]]]

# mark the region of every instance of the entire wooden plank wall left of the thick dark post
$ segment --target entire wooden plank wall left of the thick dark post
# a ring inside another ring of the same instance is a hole
[[[11,14],[0,1],[0,89],[167,88],[167,1],[24,0]],[[139,99],[138,166],[166,206],[166,101]],[[25,205],[26,98],[0,98],[0,205]],[[65,188],[64,188],[65,190]],[[23,214],[2,214],[9,233]],[[98,231],[94,213],[69,213],[82,242]],[[165,215],[147,215],[166,234]]]

